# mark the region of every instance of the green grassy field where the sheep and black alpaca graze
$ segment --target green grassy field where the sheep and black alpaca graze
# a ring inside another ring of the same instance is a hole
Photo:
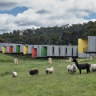
[[[86,74],[79,71],[69,74],[65,59],[54,59],[48,64],[44,59],[19,58],[14,64],[14,57],[0,54],[0,96],[96,96],[96,73]],[[79,62],[96,63],[96,60],[80,59]],[[51,75],[45,74],[45,68],[55,67]],[[30,76],[28,69],[39,69],[38,76]],[[12,71],[17,71],[17,78],[12,78]]]

